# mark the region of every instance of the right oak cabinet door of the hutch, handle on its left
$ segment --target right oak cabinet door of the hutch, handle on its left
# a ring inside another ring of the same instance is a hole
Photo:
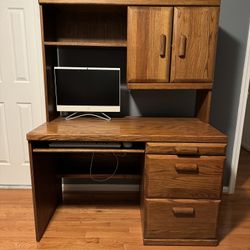
[[[176,7],[171,82],[212,82],[218,7]]]

